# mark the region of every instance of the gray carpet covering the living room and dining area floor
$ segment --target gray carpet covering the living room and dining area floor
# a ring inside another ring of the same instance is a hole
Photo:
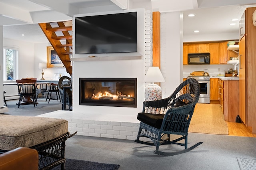
[[[38,99],[38,106],[16,106],[7,101],[6,114],[35,116],[61,109],[57,101]],[[256,158],[255,137],[234,137],[189,133],[188,147],[203,142],[195,149],[174,156],[154,154],[155,147],[131,140],[109,139],[75,135],[66,141],[65,157],[106,164],[118,164],[118,170],[240,170],[237,158]],[[160,151],[176,152],[184,149],[179,145],[162,145]]]

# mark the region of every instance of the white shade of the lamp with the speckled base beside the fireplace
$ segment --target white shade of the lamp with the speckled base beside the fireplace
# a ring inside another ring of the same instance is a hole
[[[144,82],[165,82],[159,67],[149,67]]]

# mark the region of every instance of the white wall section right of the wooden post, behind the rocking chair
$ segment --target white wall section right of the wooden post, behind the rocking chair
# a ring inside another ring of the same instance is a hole
[[[161,13],[161,71],[166,82],[161,83],[163,98],[174,92],[182,81],[183,20],[180,12]]]

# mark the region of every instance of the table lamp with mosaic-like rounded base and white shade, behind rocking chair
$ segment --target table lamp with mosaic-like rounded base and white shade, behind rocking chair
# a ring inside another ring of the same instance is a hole
[[[162,99],[162,89],[158,84],[154,82],[164,82],[164,77],[159,69],[159,67],[149,67],[144,78],[144,82],[151,82],[145,88],[145,100],[159,100]]]

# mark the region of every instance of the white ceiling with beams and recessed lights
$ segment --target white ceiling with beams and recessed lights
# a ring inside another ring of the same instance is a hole
[[[184,36],[230,33],[256,0],[0,0],[0,25],[4,37],[32,43],[48,42],[37,23],[72,20],[74,14],[132,8],[184,13]],[[190,13],[196,14],[189,18]],[[236,25],[230,25],[236,23]],[[22,36],[24,34],[24,36]]]

